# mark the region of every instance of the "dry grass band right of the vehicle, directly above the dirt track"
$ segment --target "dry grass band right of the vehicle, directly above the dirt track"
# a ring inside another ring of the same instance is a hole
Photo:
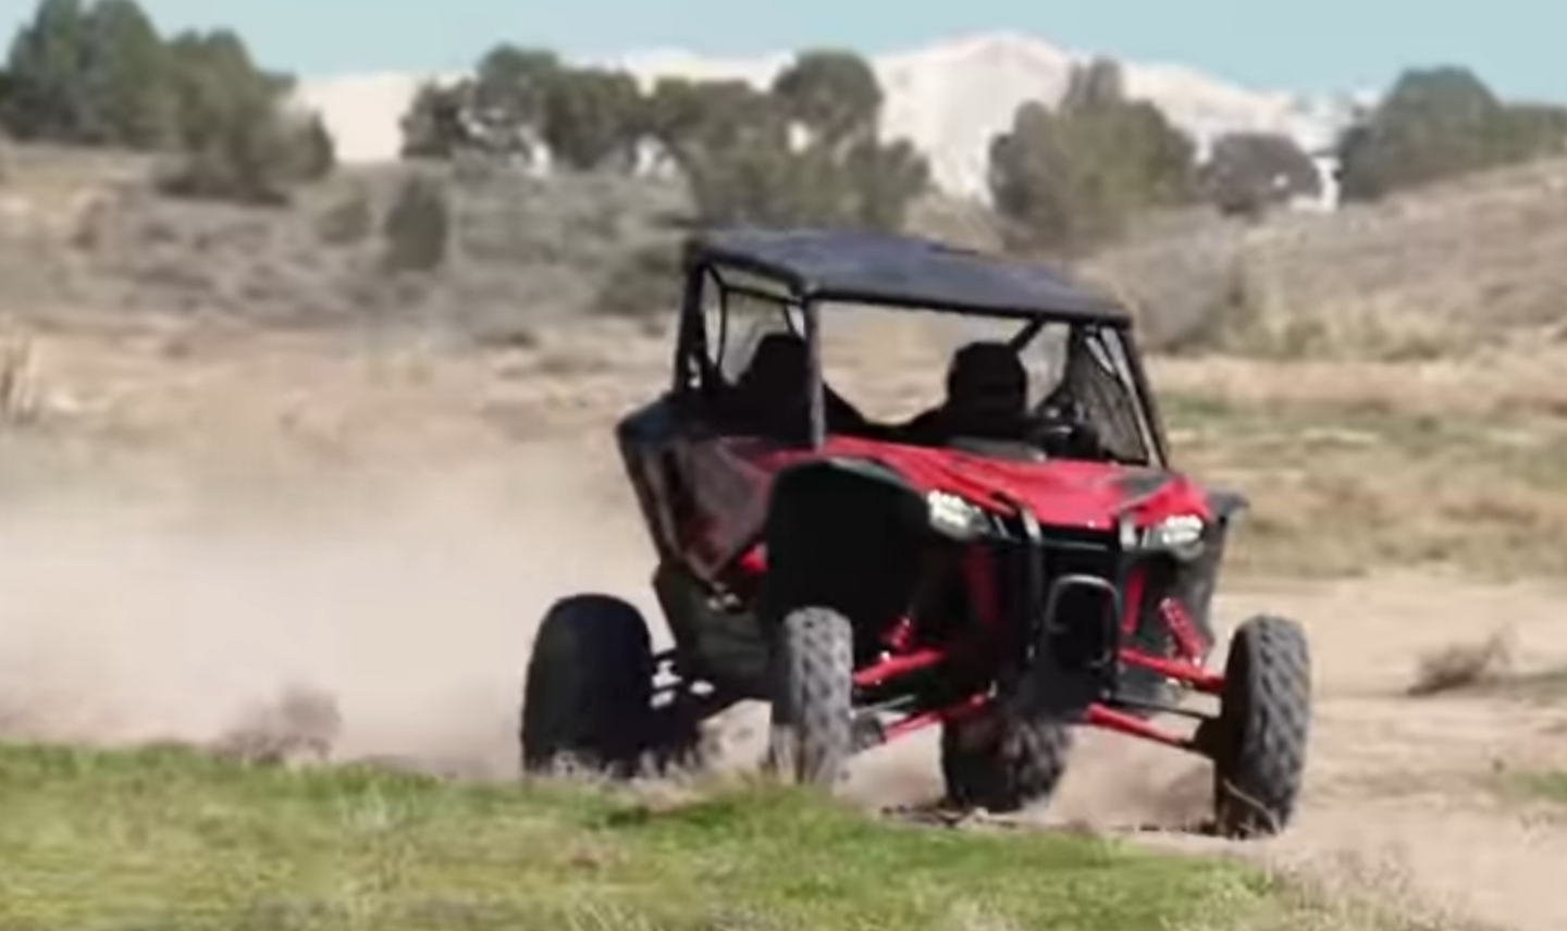
[[[1567,572],[1567,417],[1194,390],[1161,401],[1182,467],[1252,500],[1241,572]]]

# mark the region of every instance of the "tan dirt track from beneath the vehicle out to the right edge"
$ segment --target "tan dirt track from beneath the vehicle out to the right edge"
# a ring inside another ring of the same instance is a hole
[[[1301,619],[1315,649],[1316,719],[1305,798],[1266,843],[1142,835],[1177,849],[1222,849],[1318,882],[1514,931],[1567,928],[1559,893],[1567,815],[1498,792],[1507,771],[1567,770],[1567,705],[1456,693],[1412,699],[1418,657],[1507,633],[1512,671],[1567,666],[1567,592],[1395,577],[1244,586],[1233,622],[1257,611]],[[1177,828],[1208,806],[1208,766],[1111,735],[1086,735],[1048,810],[1026,820],[1103,829]],[[867,760],[859,798],[939,792],[931,741]]]

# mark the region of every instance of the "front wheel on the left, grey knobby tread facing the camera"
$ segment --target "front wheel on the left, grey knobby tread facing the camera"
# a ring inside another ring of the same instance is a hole
[[[798,608],[777,629],[768,765],[831,788],[854,754],[854,629],[831,608]]]

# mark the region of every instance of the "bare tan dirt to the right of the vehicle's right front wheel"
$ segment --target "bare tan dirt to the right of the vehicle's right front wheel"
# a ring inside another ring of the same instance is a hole
[[[1567,666],[1567,592],[1391,578],[1233,603],[1269,600],[1310,624],[1319,699],[1301,818],[1257,853],[1351,881],[1391,875],[1434,907],[1498,926],[1567,928],[1567,821],[1498,792],[1507,771],[1567,770],[1567,705],[1402,694],[1417,657],[1496,630],[1515,672]]]

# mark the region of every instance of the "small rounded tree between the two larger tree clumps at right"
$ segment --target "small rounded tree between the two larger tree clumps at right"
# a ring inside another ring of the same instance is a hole
[[[1316,163],[1288,136],[1236,132],[1219,136],[1202,166],[1203,194],[1225,213],[1258,215],[1323,190]]]

